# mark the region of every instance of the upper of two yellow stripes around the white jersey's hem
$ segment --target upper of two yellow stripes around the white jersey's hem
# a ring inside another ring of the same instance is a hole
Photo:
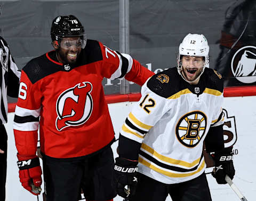
[[[157,157],[157,158],[161,159],[162,161],[167,162],[169,164],[181,165],[181,166],[184,166],[184,167],[193,167],[193,166],[197,165],[200,162],[200,158],[194,160],[192,163],[188,163],[188,162],[185,162],[185,161],[182,161],[182,160],[176,160],[176,159],[173,159],[173,158],[163,156],[161,154],[158,154],[158,152],[156,152],[153,148],[147,146],[147,144],[145,144],[145,143],[141,144],[141,148],[148,151],[153,156],[155,156],[155,157]]]

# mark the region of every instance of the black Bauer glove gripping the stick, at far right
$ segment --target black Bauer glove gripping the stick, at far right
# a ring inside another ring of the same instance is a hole
[[[215,161],[215,168],[212,172],[212,176],[219,184],[226,184],[225,177],[228,175],[232,180],[235,175],[235,168],[233,165],[233,147],[228,147],[220,151],[216,151],[211,154]]]

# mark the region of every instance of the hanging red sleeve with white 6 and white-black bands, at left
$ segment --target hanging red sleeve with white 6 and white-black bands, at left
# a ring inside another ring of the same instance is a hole
[[[41,98],[38,82],[32,84],[22,70],[13,122],[15,144],[20,156],[36,155]]]

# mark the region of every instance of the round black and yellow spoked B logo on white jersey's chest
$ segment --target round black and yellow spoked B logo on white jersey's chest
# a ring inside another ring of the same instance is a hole
[[[175,133],[184,146],[195,147],[203,138],[206,126],[206,115],[202,111],[192,111],[180,118]]]

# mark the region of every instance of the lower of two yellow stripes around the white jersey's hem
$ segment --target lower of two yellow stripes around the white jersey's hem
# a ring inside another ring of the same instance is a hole
[[[191,175],[196,174],[196,173],[200,172],[201,170],[203,170],[203,168],[205,166],[205,162],[203,161],[201,166],[195,172],[178,174],[178,173],[172,173],[172,172],[168,172],[168,171],[165,171],[165,170],[161,170],[160,168],[156,167],[153,164],[150,164],[149,162],[142,159],[141,157],[139,157],[139,162],[141,164],[149,167],[150,169],[156,171],[156,172],[159,172],[159,173],[164,174],[166,176],[170,176],[172,178],[182,178],[182,177],[186,177],[186,176],[191,176]]]

